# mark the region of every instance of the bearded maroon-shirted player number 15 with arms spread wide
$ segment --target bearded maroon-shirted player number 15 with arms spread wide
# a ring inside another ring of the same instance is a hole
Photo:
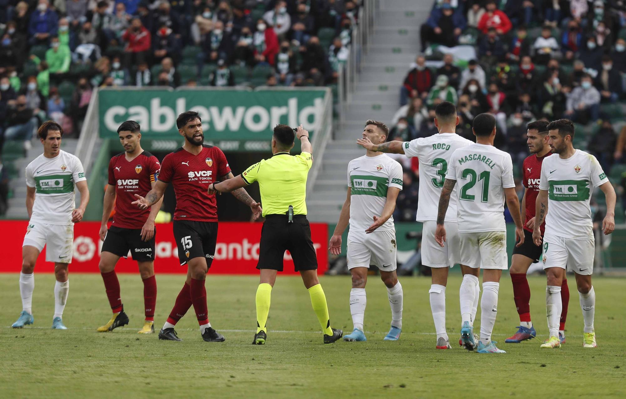
[[[213,330],[208,321],[205,290],[205,278],[213,261],[217,240],[217,205],[215,194],[209,194],[208,187],[214,182],[233,178],[233,174],[222,150],[203,144],[202,120],[197,112],[180,114],[176,124],[178,132],[185,137],[185,144],[163,158],[155,187],[145,198],[136,194],[136,201],[133,202],[140,209],[146,209],[162,198],[167,184],[174,185],[176,210],[173,231],[180,265],[187,265],[187,281],[178,293],[158,337],[160,340],[182,341],[174,326],[193,305],[203,340],[222,342],[224,337]],[[245,189],[236,189],[232,194],[250,206],[255,220],[259,218],[262,213],[260,203],[253,200]]]

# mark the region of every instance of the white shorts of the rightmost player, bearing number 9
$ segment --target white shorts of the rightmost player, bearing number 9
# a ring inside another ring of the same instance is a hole
[[[578,275],[589,276],[593,273],[595,238],[574,240],[552,234],[543,236],[543,270],[562,268]]]

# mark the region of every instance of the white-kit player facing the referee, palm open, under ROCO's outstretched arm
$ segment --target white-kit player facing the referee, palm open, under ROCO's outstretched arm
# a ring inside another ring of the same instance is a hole
[[[363,138],[384,143],[389,129],[384,123],[367,121]],[[379,151],[367,150],[364,156],[348,163],[348,190],[341,215],[331,237],[329,250],[341,253],[341,235],[350,223],[347,237],[348,269],[352,275],[350,313],[354,330],[344,341],[366,341],[363,331],[367,270],[374,265],[381,271],[391,305],[391,328],[384,337],[396,341],[402,331],[402,285],[396,275],[396,228],[393,214],[402,189],[402,166]]]

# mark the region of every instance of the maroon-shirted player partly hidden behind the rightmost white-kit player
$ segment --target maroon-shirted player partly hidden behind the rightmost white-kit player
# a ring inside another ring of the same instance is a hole
[[[515,298],[515,306],[517,313],[520,315],[520,326],[518,331],[511,337],[506,338],[505,342],[520,343],[521,341],[530,340],[536,337],[535,327],[530,321],[530,287],[526,279],[526,272],[530,268],[531,263],[538,261],[541,257],[541,246],[533,243],[533,228],[535,228],[535,200],[539,193],[539,179],[541,176],[541,163],[547,156],[552,155],[550,146],[548,145],[548,122],[535,121],[529,123],[528,129],[528,149],[530,156],[524,159],[522,171],[522,183],[526,190],[521,200],[522,212],[525,212],[524,235],[526,236],[524,243],[515,247],[513,250],[513,258],[511,258],[511,281],[513,282],[513,298]],[[541,225],[541,236],[543,236],[544,225]],[[563,275],[563,285],[561,288],[561,299],[563,301],[563,311],[561,313],[561,325],[559,328],[559,339],[561,343],[565,343],[565,319],[567,318],[567,305],[570,301],[570,290],[567,286],[567,279]]]

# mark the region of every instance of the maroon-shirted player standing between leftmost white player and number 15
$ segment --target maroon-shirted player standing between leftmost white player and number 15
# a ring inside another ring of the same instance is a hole
[[[128,324],[128,316],[120,297],[120,281],[115,274],[115,265],[130,250],[133,260],[137,261],[141,280],[143,280],[143,303],[145,322],[140,334],[155,332],[154,316],[156,305],[156,279],[154,268],[155,256],[155,218],[161,208],[158,200],[152,208],[137,209],[131,205],[135,194],[145,195],[156,184],[161,165],[156,156],[143,151],[140,140],[140,126],[135,121],[126,121],[118,128],[120,143],[124,147],[109,162],[109,184],[106,188],[100,240],[105,241],[100,254],[100,273],[105,281],[106,296],[109,298],[113,316],[98,331],[112,331]],[[106,225],[115,203],[113,224],[107,230]]]

